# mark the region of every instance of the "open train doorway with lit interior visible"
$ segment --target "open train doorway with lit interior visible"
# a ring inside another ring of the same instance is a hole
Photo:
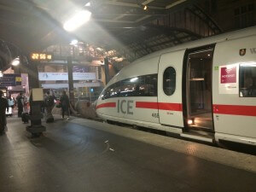
[[[189,129],[213,130],[212,56],[213,49],[200,49],[187,55],[183,108]]]

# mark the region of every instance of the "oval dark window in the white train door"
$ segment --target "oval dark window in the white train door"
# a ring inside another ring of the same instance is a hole
[[[166,96],[172,96],[176,89],[176,71],[173,67],[167,67],[163,77],[163,90]]]

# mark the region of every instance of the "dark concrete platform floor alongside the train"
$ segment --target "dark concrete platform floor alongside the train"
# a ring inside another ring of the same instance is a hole
[[[0,137],[1,192],[256,191],[256,158],[87,119]]]

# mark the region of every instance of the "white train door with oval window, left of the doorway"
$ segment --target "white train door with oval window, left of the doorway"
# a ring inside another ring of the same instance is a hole
[[[158,77],[160,124],[181,129],[183,128],[182,74],[184,53],[185,49],[161,55]]]

